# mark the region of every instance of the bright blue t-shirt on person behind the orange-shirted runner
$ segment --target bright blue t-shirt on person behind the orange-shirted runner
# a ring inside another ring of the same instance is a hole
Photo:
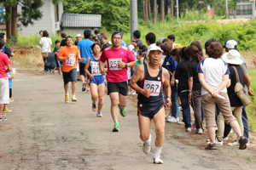
[[[85,61],[80,61],[80,63],[85,64],[86,60],[91,55],[91,46],[94,42],[90,41],[89,39],[83,39],[78,42],[78,48],[80,50],[81,58],[84,58]]]

